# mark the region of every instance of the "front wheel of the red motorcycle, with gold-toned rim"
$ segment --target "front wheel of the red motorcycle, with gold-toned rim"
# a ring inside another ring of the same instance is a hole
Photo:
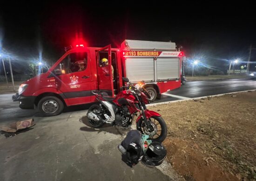
[[[163,118],[160,116],[152,116],[149,118],[151,131],[146,127],[146,123],[143,118],[137,122],[137,130],[141,131],[142,134],[148,135],[152,142],[163,142],[167,136],[167,125]]]

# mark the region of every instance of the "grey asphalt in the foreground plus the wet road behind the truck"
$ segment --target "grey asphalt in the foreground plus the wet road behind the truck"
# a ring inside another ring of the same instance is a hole
[[[187,82],[154,103],[256,89],[256,81],[230,79]],[[170,97],[168,95],[174,95]],[[173,168],[162,165],[133,168],[121,161],[117,145],[128,130],[88,126],[86,109],[74,106],[54,117],[21,110],[13,94],[0,94],[0,125],[34,118],[36,125],[16,136],[0,133],[0,180],[178,180]],[[11,136],[11,137],[9,137]],[[168,175],[168,176],[167,176]]]

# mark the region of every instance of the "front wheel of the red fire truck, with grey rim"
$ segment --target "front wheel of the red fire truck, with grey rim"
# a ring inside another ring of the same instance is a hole
[[[38,110],[42,116],[56,116],[61,114],[64,104],[58,97],[42,97],[37,104]]]

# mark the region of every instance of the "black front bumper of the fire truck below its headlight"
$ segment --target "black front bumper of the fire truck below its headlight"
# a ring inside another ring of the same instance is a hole
[[[20,108],[24,110],[34,109],[35,96],[20,96],[18,94],[12,96],[13,101],[19,101]]]

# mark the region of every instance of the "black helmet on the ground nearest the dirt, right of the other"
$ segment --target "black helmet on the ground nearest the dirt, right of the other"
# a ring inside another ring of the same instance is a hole
[[[144,154],[141,162],[146,166],[158,166],[163,162],[166,154],[167,151],[161,142],[152,142],[148,146],[148,150]]]

